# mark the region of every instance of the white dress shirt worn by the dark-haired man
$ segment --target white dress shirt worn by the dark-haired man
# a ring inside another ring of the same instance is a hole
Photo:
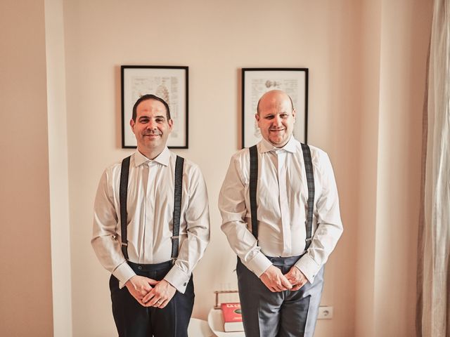
[[[161,263],[170,260],[174,212],[176,154],[167,147],[153,160],[136,151],[131,155],[127,194],[127,239],[129,260]],[[120,286],[136,275],[121,250],[121,163],[103,172],[94,204],[91,244],[105,269]],[[205,180],[198,166],[184,160],[183,197],[179,231],[179,256],[165,279],[184,293],[191,272],[210,241],[210,215]]]

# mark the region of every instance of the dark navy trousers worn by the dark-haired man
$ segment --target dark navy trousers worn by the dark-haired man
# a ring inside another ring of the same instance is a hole
[[[160,281],[172,268],[170,261],[154,265],[129,263],[136,275]],[[119,281],[111,275],[111,301],[117,332],[120,337],[186,337],[194,304],[193,279],[185,293],[176,291],[163,309],[143,307],[131,296],[126,286],[119,289]]]

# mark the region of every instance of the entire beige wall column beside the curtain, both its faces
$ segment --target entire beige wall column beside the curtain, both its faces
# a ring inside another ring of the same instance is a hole
[[[356,336],[414,336],[432,1],[364,1]]]

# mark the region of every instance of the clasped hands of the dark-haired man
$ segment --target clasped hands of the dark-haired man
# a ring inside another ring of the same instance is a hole
[[[165,279],[156,281],[148,277],[134,275],[126,283],[131,296],[144,307],[165,308],[174,297],[176,289]]]

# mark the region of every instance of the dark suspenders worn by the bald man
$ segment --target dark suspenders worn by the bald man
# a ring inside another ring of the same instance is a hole
[[[258,151],[257,145],[253,145],[250,150],[250,214],[252,216],[252,234],[258,239],[258,219],[257,219],[257,201],[256,192],[258,185]],[[314,211],[314,171],[312,169],[311,150],[309,146],[302,143],[302,152],[304,159],[304,169],[307,173],[308,185],[308,209],[307,219],[305,221],[307,230],[307,239],[305,244],[305,251],[309,248],[312,239],[312,218]]]

